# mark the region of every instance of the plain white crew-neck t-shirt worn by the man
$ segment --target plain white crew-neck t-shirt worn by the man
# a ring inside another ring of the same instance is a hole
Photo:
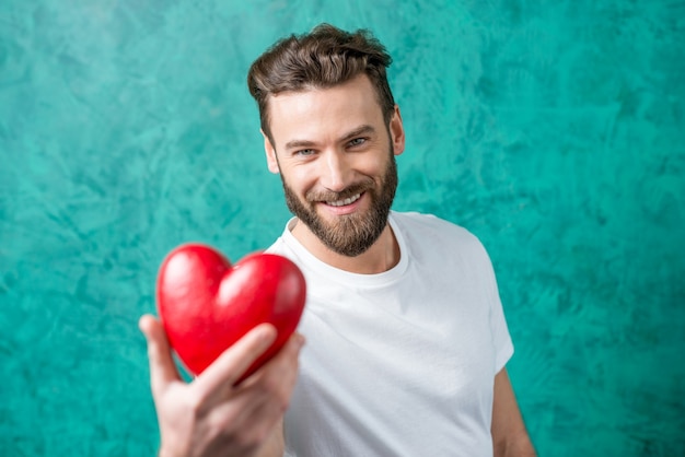
[[[491,456],[495,375],[513,354],[490,259],[466,230],[391,212],[399,263],[338,270],[290,233],[307,284],[288,456]]]

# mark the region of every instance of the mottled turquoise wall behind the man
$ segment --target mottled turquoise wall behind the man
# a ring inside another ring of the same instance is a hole
[[[0,455],[154,453],[137,319],[281,232],[245,74],[322,21],[395,56],[395,208],[490,251],[541,455],[684,455],[685,2],[333,3],[3,0]]]

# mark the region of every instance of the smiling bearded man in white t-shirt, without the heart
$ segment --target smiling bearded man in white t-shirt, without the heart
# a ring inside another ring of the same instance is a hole
[[[143,316],[161,455],[535,455],[485,249],[391,211],[405,133],[390,62],[369,33],[322,25],[253,63],[268,168],[295,215],[269,251],[306,278],[301,335],[234,386],[275,338],[259,326],[185,384]]]

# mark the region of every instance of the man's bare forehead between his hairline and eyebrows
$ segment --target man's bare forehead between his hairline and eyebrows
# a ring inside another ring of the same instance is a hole
[[[312,87],[272,95],[269,129],[276,143],[342,134],[360,124],[383,124],[376,92],[365,74],[333,87]]]

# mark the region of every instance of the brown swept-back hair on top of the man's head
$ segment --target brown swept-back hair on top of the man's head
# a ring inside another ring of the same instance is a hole
[[[247,86],[257,101],[262,130],[269,138],[268,98],[287,91],[326,89],[364,73],[375,87],[385,124],[395,101],[385,69],[392,59],[385,47],[367,30],[349,33],[321,24],[309,34],[277,42],[249,67]]]

